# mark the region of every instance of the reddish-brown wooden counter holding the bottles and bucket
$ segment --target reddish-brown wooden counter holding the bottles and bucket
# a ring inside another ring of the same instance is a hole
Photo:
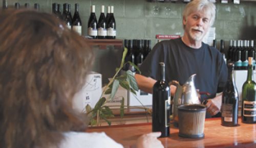
[[[223,127],[220,118],[206,119],[203,139],[179,137],[179,129],[172,125],[170,136],[159,138],[159,140],[162,141],[164,147],[256,147],[256,124],[243,124],[239,119],[239,125],[238,127]],[[124,147],[129,147],[139,136],[151,131],[151,123],[145,123],[91,127],[87,132],[105,132]]]

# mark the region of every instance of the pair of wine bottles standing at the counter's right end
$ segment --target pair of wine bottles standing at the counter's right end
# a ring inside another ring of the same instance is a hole
[[[256,83],[253,81],[253,57],[248,58],[247,79],[242,87],[242,122],[256,123]],[[228,63],[228,80],[222,94],[221,124],[238,126],[239,93],[233,78],[234,64]]]

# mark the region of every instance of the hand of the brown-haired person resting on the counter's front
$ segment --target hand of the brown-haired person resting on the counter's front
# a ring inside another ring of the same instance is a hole
[[[153,132],[140,136],[136,142],[137,148],[163,148],[163,144],[157,137],[161,136],[161,132]]]

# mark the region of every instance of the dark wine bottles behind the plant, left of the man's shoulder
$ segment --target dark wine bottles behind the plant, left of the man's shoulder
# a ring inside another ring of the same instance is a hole
[[[151,40],[125,39],[124,47],[128,50],[125,62],[130,61],[139,67],[148,53],[151,52]],[[135,67],[131,64],[124,65],[123,70],[131,70],[132,72],[136,71]]]

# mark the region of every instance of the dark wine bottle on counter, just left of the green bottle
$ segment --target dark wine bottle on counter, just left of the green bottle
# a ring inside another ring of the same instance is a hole
[[[228,79],[222,93],[221,125],[227,127],[238,126],[239,94],[233,78],[233,63],[228,63]]]

